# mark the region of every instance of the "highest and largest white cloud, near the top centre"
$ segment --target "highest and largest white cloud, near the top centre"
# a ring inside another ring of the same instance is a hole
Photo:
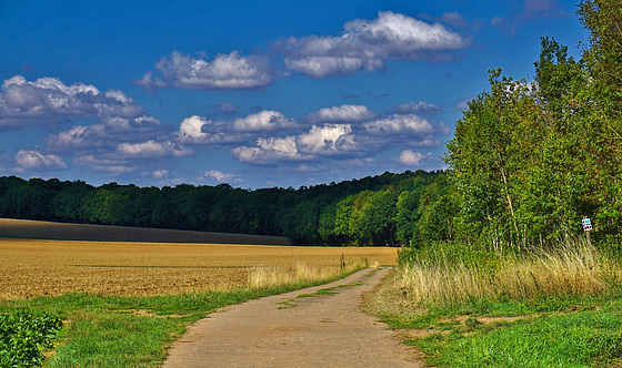
[[[285,55],[285,67],[313,78],[368,72],[385,68],[384,60],[449,60],[470,39],[441,23],[381,11],[373,21],[353,20],[340,37],[308,35],[274,43]]]

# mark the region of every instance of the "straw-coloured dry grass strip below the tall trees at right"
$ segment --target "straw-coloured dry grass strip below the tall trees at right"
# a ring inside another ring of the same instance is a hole
[[[411,264],[401,269],[395,287],[414,303],[454,304],[500,296],[599,295],[614,275],[622,275],[622,269],[594,248],[569,245],[529,256],[504,256],[494,269],[463,263]]]

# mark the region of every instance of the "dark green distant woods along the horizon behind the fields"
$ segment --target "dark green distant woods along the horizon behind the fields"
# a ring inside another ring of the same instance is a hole
[[[139,187],[0,177],[0,217],[287,236],[298,245],[397,245],[430,236],[443,172],[384,173],[311,187]],[[442,192],[441,190],[441,192]],[[421,218],[424,218],[420,222]]]

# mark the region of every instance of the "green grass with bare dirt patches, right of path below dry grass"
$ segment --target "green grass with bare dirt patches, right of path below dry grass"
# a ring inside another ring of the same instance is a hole
[[[404,340],[435,367],[612,367],[622,362],[622,297],[508,300],[384,315],[395,329],[433,329]],[[458,319],[462,316],[462,319]],[[525,316],[481,321],[485,317]]]

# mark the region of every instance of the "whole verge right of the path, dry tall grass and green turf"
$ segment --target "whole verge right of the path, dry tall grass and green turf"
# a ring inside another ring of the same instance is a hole
[[[368,308],[437,367],[622,366],[618,260],[471,251],[410,255]]]

